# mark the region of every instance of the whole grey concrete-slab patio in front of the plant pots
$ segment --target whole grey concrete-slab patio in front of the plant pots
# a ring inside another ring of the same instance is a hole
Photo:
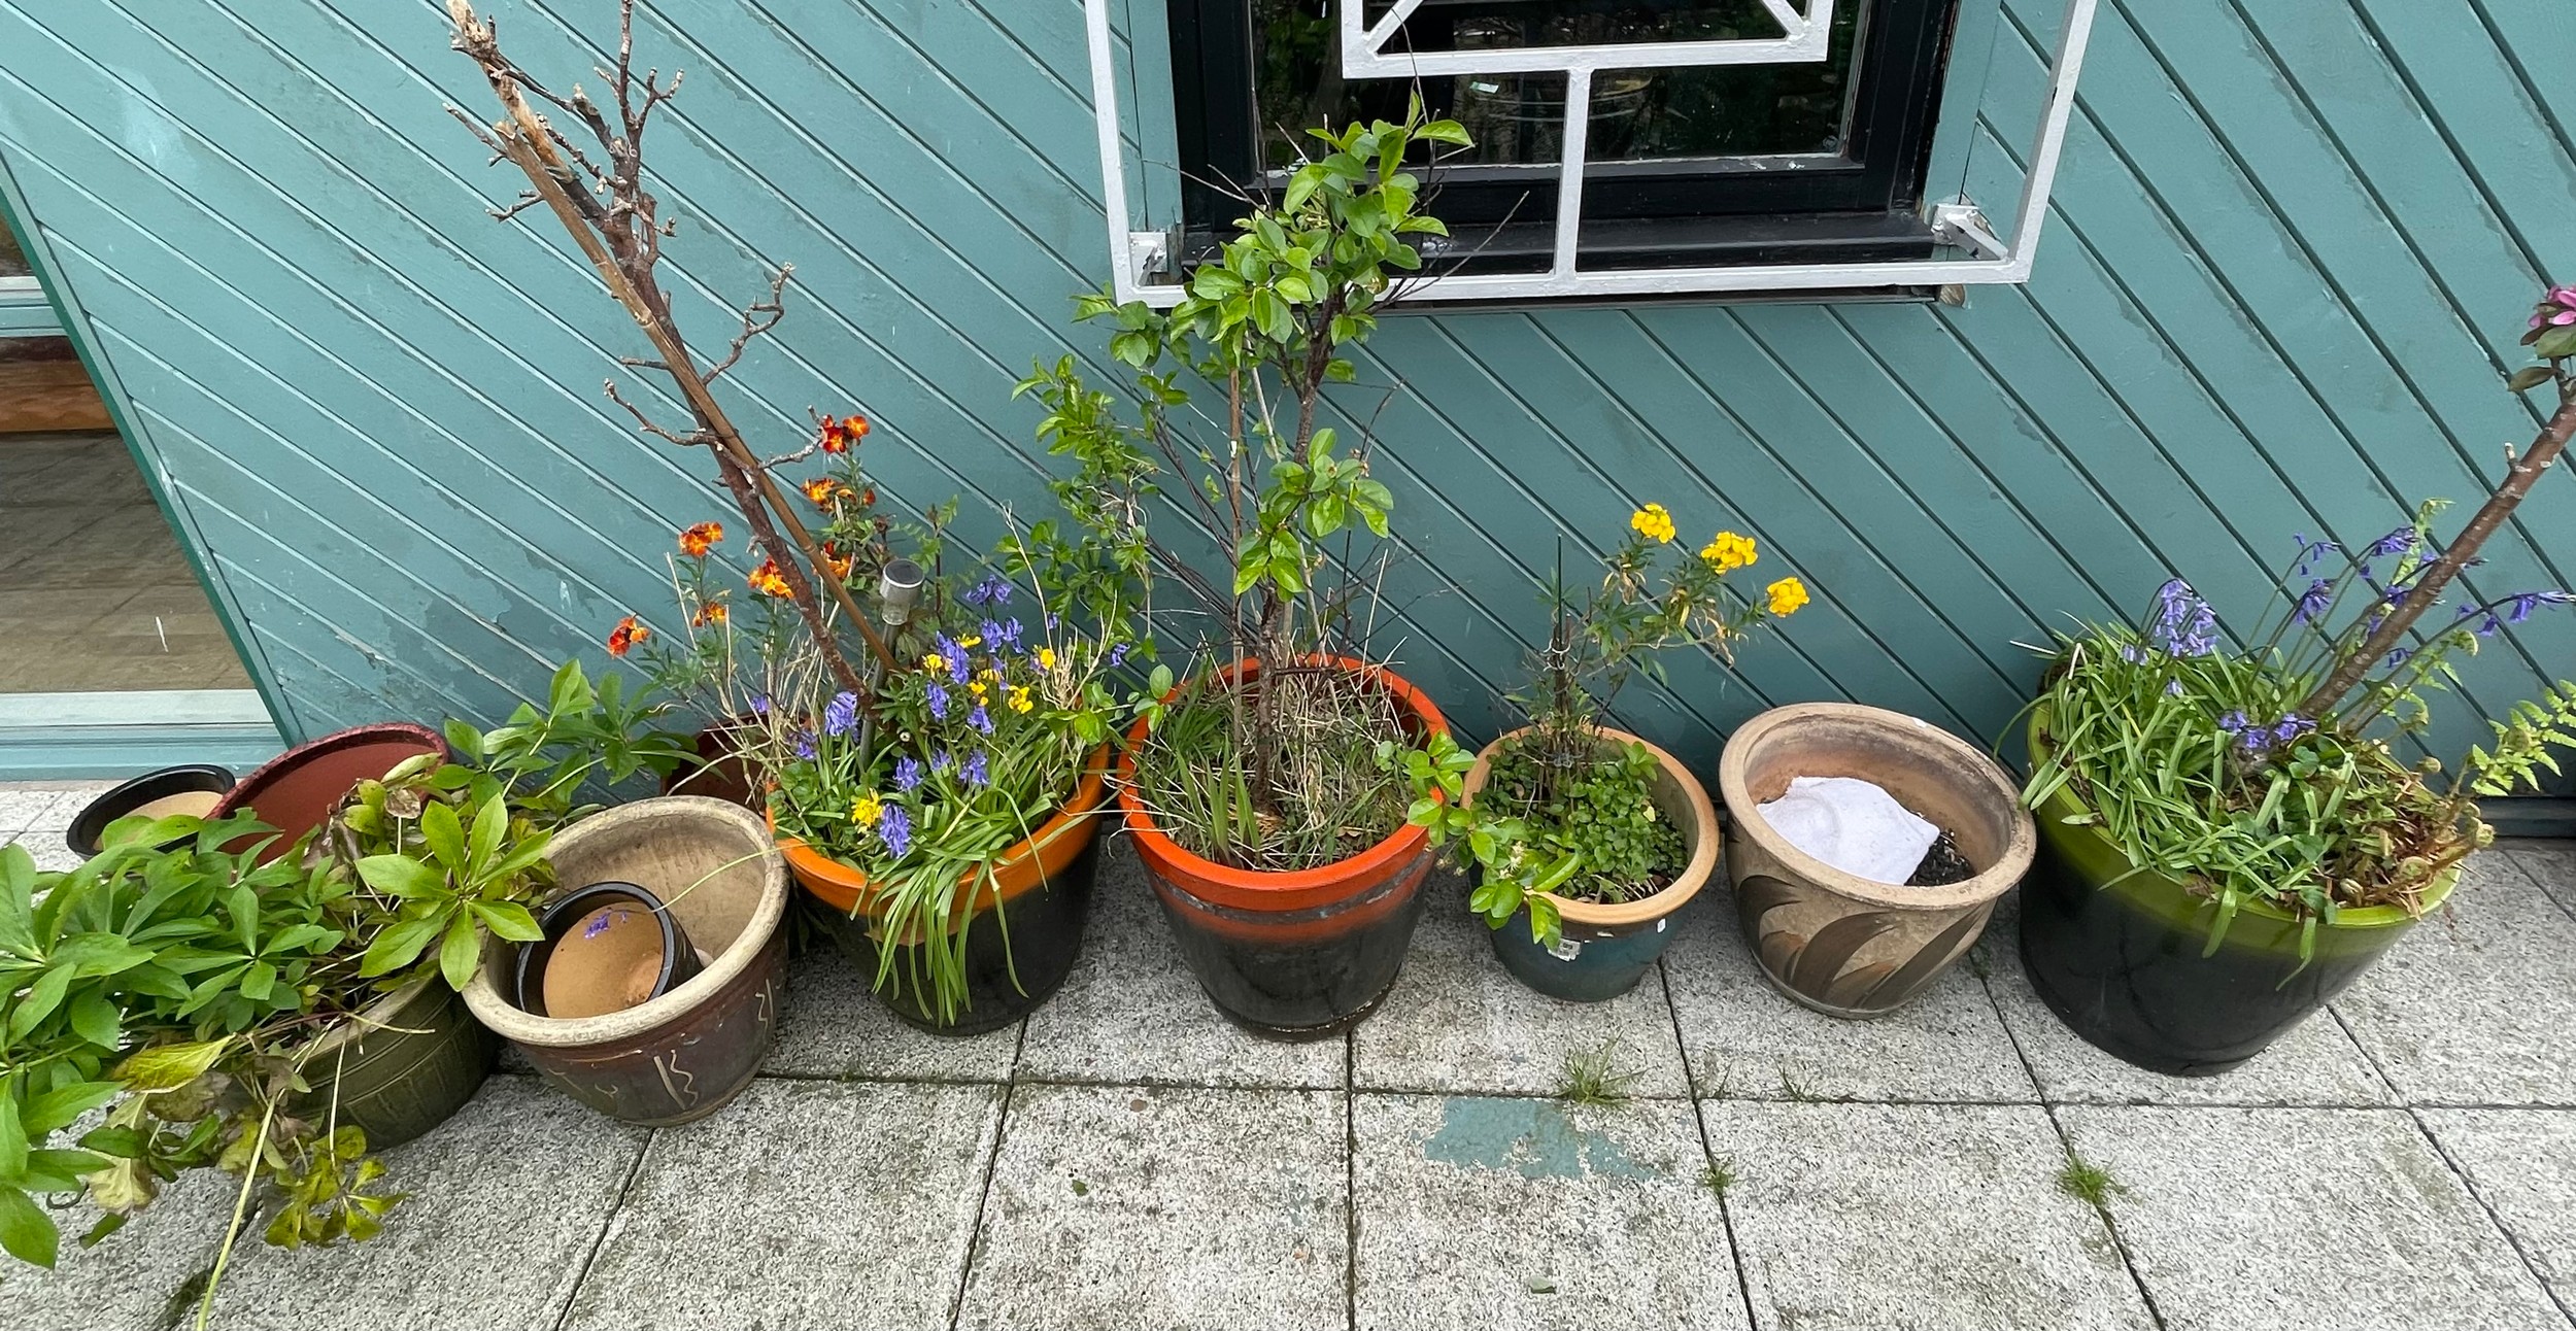
[[[0,788],[0,839],[59,862],[77,803]],[[2481,855],[2334,1012],[2202,1081],[2069,1035],[2009,901],[1937,991],[1857,1025],[1765,989],[1726,906],[1695,901],[1641,991],[1566,1007],[1443,883],[1376,1017],[1273,1045],[1208,1009],[1121,850],[1020,1027],[914,1035],[814,955],[768,1076],[701,1125],[621,1128],[505,1063],[392,1151],[412,1200],[384,1238],[247,1243],[214,1326],[2576,1326],[2566,844]],[[1548,1099],[1605,1043],[1636,1099]],[[2069,1151],[2115,1179],[2105,1210],[2058,1189]],[[10,1272],[0,1326],[185,1326],[229,1205],[185,1179]]]

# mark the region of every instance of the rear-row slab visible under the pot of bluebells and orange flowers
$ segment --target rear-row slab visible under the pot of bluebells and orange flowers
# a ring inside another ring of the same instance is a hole
[[[894,1017],[868,976],[832,947],[788,963],[786,1014],[768,1076],[868,1081],[1010,1081],[1020,1025],[984,1035],[927,1035]]]

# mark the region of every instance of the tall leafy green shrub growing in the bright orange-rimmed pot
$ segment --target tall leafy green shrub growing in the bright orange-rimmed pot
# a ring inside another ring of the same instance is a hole
[[[1448,234],[1422,211],[1412,165],[1468,144],[1419,98],[1401,124],[1309,136],[1314,152],[1280,196],[1247,206],[1170,312],[1082,296],[1079,317],[1115,324],[1110,355],[1136,371],[1136,420],[1072,358],[1020,384],[1046,404],[1048,451],[1077,463],[1059,499],[1100,535],[1108,574],[1180,584],[1221,662],[1262,662],[1257,685],[1195,672],[1154,711],[1136,754],[1141,798],[1164,832],[1260,870],[1342,860],[1404,819],[1404,783],[1376,759],[1381,741],[1404,741],[1394,703],[1316,662],[1365,654],[1358,610],[1373,608],[1376,584],[1355,541],[1386,538],[1394,505],[1368,474],[1365,443],[1324,425],[1324,386],[1355,378],[1345,353],[1376,330],[1396,281],[1422,268],[1414,237]],[[1180,546],[1146,528],[1157,494],[1195,528]],[[1198,541],[1218,548],[1221,579],[1182,554]]]

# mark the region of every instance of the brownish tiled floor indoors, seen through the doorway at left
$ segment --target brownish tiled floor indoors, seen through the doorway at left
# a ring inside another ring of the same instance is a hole
[[[113,433],[0,435],[0,693],[250,687]]]

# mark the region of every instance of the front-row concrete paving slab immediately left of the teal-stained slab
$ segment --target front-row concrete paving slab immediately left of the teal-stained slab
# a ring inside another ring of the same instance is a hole
[[[1023,1084],[958,1326],[1342,1326],[1345,1133],[1329,1092]]]

